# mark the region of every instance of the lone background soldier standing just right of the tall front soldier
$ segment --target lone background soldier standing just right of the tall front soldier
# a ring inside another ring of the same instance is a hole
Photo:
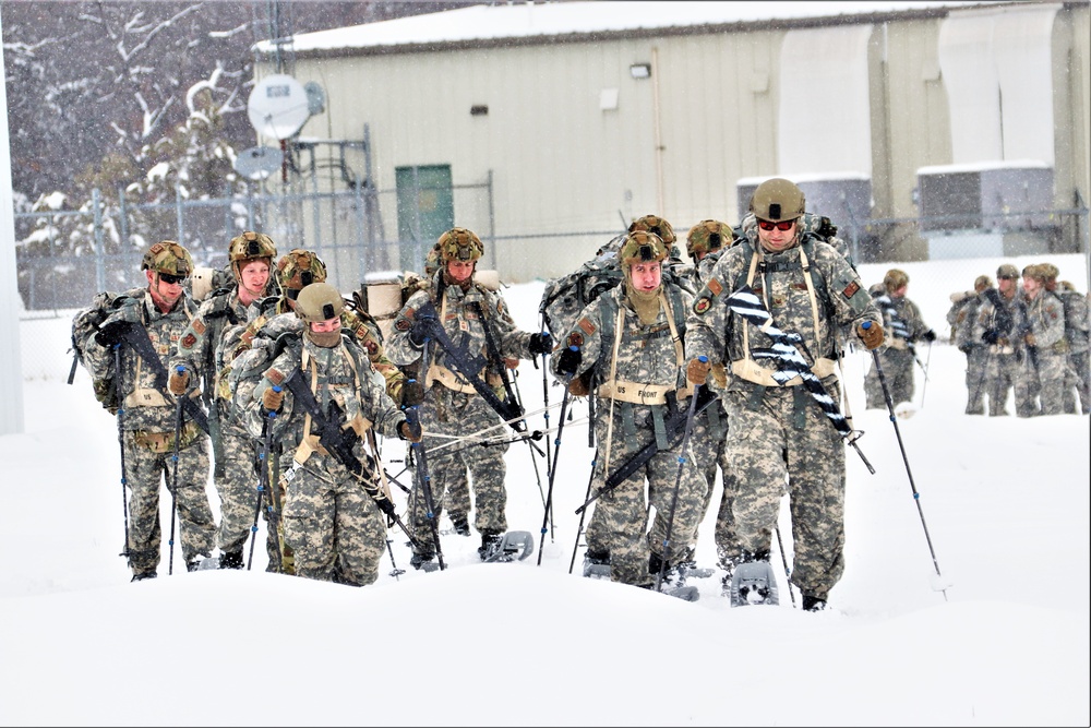
[[[879,350],[878,358],[886,375],[890,401],[895,405],[903,402],[912,404],[915,391],[914,367],[921,367],[927,377],[924,362],[916,354],[918,342],[931,345],[936,341],[936,332],[924,323],[920,307],[906,296],[908,289],[909,275],[902,270],[890,268],[883,276],[883,293],[875,299],[883,312],[883,330],[886,332],[886,347]],[[874,362],[864,375],[864,394],[868,409],[886,408],[883,383]]]

